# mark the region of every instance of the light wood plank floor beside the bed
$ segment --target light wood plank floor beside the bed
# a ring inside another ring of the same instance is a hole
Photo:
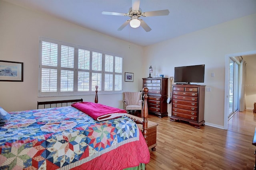
[[[147,170],[253,170],[256,113],[252,110],[236,113],[228,130],[207,125],[197,129],[155,115],[149,120],[159,125]]]

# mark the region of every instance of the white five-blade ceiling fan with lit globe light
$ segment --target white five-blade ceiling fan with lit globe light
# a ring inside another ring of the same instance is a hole
[[[132,8],[129,9],[128,13],[119,13],[119,12],[106,12],[103,11],[104,15],[114,15],[114,16],[129,16],[131,19],[125,21],[121,27],[117,30],[121,31],[130,23],[130,26],[133,28],[137,28],[140,25],[146,32],[151,31],[151,28],[146,24],[145,21],[139,19],[141,16],[150,17],[150,16],[167,16],[169,14],[169,10],[159,10],[159,11],[150,11],[150,12],[141,12],[140,9],[140,0],[132,0]]]

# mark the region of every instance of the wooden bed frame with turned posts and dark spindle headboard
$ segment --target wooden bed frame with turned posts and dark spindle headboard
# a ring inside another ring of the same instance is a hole
[[[98,86],[95,86],[96,90],[96,94],[95,94],[95,103],[98,103]],[[132,119],[135,123],[137,124],[141,124],[142,125],[142,134],[146,140],[146,143],[148,144],[148,88],[143,88],[143,92],[144,92],[144,105],[143,105],[143,109],[142,109],[142,121],[135,119],[133,117],[127,116],[130,119]],[[48,101],[48,102],[37,102],[37,109],[39,108],[40,105],[45,105],[50,104],[50,107],[52,106],[52,104],[55,104],[55,107],[58,107],[57,104],[61,104],[61,107],[63,106],[62,104],[66,104],[65,106],[68,106],[68,103],[75,103],[75,102],[82,102],[83,99],[75,99],[75,100],[57,100],[57,101]]]

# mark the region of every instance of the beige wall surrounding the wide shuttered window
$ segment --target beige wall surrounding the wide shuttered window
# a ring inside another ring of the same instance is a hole
[[[94,102],[94,96],[38,98],[40,36],[121,55],[123,71],[134,73],[134,82],[124,82],[124,90],[141,90],[142,47],[131,44],[129,49],[128,42],[0,0],[0,60],[24,63],[24,82],[0,82],[0,106],[6,111],[36,109],[37,101],[83,98]],[[100,103],[112,107],[122,108],[122,100],[122,94],[99,96]]]

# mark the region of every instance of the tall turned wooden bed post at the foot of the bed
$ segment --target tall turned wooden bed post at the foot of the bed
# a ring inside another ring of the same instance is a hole
[[[148,88],[144,87],[143,88],[144,92],[144,105],[142,109],[142,134],[144,135],[144,138],[146,140],[146,143],[148,144]]]

